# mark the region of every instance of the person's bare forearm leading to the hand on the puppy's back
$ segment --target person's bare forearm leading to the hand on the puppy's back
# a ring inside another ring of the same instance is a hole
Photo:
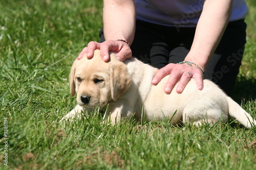
[[[185,60],[205,68],[222,38],[231,10],[232,0],[205,0],[193,44]]]

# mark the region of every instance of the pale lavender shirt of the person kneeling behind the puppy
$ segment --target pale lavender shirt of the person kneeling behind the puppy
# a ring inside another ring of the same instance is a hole
[[[196,27],[203,4],[204,0],[135,0],[137,19],[172,27]],[[245,18],[247,11],[244,0],[234,0],[230,21]]]

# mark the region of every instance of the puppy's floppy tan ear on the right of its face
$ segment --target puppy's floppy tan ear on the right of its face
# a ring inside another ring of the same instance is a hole
[[[128,73],[126,65],[120,61],[110,64],[109,71],[111,96],[116,101],[129,88],[132,78]]]

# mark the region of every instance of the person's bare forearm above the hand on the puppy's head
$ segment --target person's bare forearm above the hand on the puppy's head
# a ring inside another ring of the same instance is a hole
[[[123,39],[132,44],[136,10],[133,0],[104,0],[103,29],[105,40]]]

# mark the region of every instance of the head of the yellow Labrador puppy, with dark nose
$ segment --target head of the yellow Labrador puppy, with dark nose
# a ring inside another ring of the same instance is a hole
[[[95,50],[92,59],[84,55],[75,60],[70,71],[70,93],[77,93],[80,106],[105,106],[129,88],[131,76],[124,63],[111,54],[109,62],[104,62],[99,50]]]

